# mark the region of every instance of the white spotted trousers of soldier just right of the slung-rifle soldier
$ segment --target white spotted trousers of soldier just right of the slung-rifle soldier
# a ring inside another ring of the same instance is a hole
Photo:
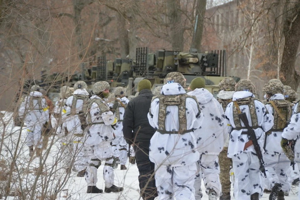
[[[266,188],[271,190],[275,183],[280,183],[282,185],[282,191],[288,193],[290,191],[290,183],[287,173],[290,168],[290,160],[284,153],[276,155],[265,153],[263,160],[267,174]]]

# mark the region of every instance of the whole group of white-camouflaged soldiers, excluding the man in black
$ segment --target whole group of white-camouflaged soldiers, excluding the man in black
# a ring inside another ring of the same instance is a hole
[[[300,163],[300,105],[295,91],[272,79],[263,88],[262,103],[248,79],[236,83],[225,78],[219,88],[215,99],[198,77],[186,93],[184,76],[172,72],[153,91],[148,120],[155,133],[149,159],[155,165],[158,199],[201,199],[202,180],[210,200],[231,199],[231,168],[235,199],[257,200],[264,189],[270,191],[270,200],[284,199],[290,192],[291,163]],[[34,147],[41,155],[40,129],[48,115],[38,89],[32,87],[19,110],[27,124],[30,156]],[[96,187],[101,161],[105,192],[123,191],[114,185],[113,169],[117,163],[127,169],[127,152],[134,154],[126,144],[122,123],[134,97],[126,98],[125,88],[118,87],[111,101],[109,89],[105,81],[95,83],[92,94],[83,81],[74,88],[63,86],[51,117],[60,136],[63,167],[85,177],[88,193],[103,192]]]

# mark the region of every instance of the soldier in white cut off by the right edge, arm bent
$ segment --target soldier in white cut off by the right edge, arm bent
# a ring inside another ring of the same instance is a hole
[[[300,107],[299,102],[294,108],[294,113],[291,117],[291,121],[282,132],[281,147],[287,158],[291,161],[292,164],[296,165],[300,169]],[[294,152],[291,148],[291,143],[294,144]],[[299,173],[299,172],[298,172]],[[300,187],[299,187],[300,189]],[[298,197],[300,198],[300,191],[298,192]]]

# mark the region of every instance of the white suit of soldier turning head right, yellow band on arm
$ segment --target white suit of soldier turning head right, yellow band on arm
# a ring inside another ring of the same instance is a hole
[[[105,180],[105,187],[111,187],[114,183],[113,172],[113,148],[111,142],[113,141],[113,128],[115,117],[113,112],[109,111],[109,106],[97,95],[91,98],[100,99],[103,106],[99,108],[97,103],[93,103],[88,108],[87,121],[90,117],[91,123],[88,124],[86,130],[86,156],[88,157],[89,166],[87,167],[84,177],[88,186],[96,186],[97,169],[101,165],[101,161],[105,161],[103,168],[103,179]],[[94,123],[94,124],[93,124]]]

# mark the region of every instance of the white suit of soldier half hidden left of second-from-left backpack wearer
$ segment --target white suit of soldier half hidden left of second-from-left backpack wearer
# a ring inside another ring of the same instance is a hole
[[[65,128],[62,126],[61,113],[63,111],[64,105],[67,99],[60,99],[55,102],[53,113],[51,114],[51,125],[52,128],[56,128],[56,133],[59,137],[59,147],[58,150],[61,153],[61,158],[63,161],[63,167],[68,168],[72,162],[72,152],[73,152],[73,141],[72,134],[67,134]]]

